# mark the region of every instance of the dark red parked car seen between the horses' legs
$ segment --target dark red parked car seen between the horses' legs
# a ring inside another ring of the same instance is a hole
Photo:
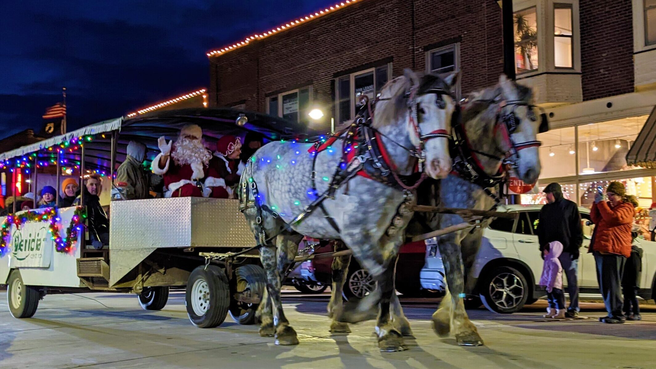
[[[443,292],[443,278],[436,279],[426,287],[420,284],[420,271],[426,258],[426,243],[424,241],[408,243],[401,247],[399,260],[396,266],[396,290],[404,296],[433,296],[435,292]],[[333,244],[317,247],[315,253],[331,252]],[[327,286],[332,283],[332,258],[308,260],[298,267],[297,275],[302,281],[310,284]],[[443,276],[443,273],[441,274]],[[344,282],[343,296],[346,300],[363,298],[376,287],[375,282],[366,269],[363,269],[355,258],[351,258],[348,265],[348,274]]]

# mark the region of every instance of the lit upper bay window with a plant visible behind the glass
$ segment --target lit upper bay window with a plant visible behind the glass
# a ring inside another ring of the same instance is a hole
[[[514,13],[514,32],[517,73],[537,70],[537,11],[535,7]]]

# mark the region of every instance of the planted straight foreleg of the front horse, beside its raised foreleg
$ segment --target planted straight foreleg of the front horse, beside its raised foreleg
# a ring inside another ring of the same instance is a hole
[[[405,350],[403,336],[394,327],[390,315],[390,301],[396,296],[394,291],[394,264],[389,265],[379,280],[379,289],[382,290],[380,298],[378,322],[376,334],[378,336],[378,347],[380,351],[396,352]]]

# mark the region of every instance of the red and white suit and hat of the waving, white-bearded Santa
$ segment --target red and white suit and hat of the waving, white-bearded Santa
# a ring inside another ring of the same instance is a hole
[[[188,125],[182,127],[180,130],[180,137],[190,136],[196,140],[201,140],[203,132],[197,125]],[[175,152],[176,146],[170,146],[169,151]],[[160,147],[161,149],[161,147]],[[167,151],[165,148],[164,151]],[[205,178],[207,171],[207,164],[201,161],[196,161],[190,164],[180,164],[173,157],[169,156],[166,165],[163,168],[159,167],[159,159],[165,152],[159,153],[153,160],[153,173],[159,174],[163,177],[165,189],[164,197],[202,197],[203,193],[201,187],[197,185],[199,181]]]

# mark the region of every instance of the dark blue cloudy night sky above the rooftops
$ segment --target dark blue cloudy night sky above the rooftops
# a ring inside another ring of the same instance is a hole
[[[335,2],[1,1],[0,138],[40,130],[62,87],[68,130],[209,87],[205,52]]]

